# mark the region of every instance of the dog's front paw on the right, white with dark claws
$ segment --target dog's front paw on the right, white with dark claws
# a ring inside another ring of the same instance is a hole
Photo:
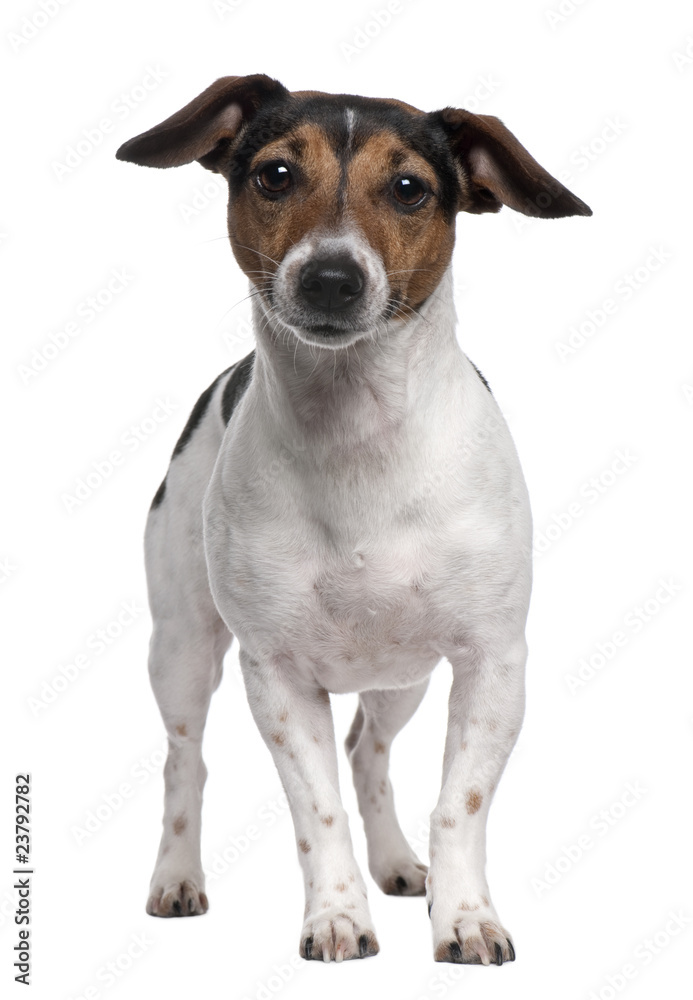
[[[501,927],[492,907],[459,909],[451,919],[436,920],[434,903],[431,920],[436,962],[503,965],[515,961],[510,935]]]

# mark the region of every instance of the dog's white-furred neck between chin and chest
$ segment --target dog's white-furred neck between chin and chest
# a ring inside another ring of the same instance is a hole
[[[393,431],[447,381],[460,356],[449,268],[410,319],[336,351],[299,341],[257,297],[253,307],[255,377],[267,416],[302,435],[365,443]]]

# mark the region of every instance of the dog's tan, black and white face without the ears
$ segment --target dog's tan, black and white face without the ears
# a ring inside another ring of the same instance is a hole
[[[460,184],[429,116],[394,101],[293,94],[281,114],[258,114],[243,146],[250,155],[232,161],[231,244],[297,336],[343,344],[428,298],[450,262]]]

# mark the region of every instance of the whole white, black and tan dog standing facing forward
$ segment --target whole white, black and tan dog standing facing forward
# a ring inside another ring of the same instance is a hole
[[[341,804],[330,695],[371,875],[426,895],[439,962],[513,961],[485,876],[489,806],[524,712],[531,515],[517,454],[458,346],[458,212],[591,210],[499,119],[224,77],[117,157],[228,179],[255,350],[202,394],[145,535],[149,672],[169,740],[147,912],[207,910],[202,735],[233,636],[293,817],[300,954],[378,952]],[[452,666],[430,868],[407,843],[392,740]]]

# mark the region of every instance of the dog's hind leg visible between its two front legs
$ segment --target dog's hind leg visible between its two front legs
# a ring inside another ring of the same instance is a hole
[[[395,815],[388,777],[390,746],[421,703],[428,678],[413,687],[364,691],[346,739],[368,842],[368,867],[383,892],[423,896],[426,866],[407,843]]]

